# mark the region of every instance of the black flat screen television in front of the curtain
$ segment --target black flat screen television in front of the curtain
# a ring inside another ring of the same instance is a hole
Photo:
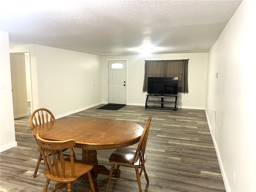
[[[148,94],[178,94],[178,77],[148,77]]]

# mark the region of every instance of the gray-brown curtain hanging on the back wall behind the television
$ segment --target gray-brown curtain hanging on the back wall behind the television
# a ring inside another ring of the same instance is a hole
[[[178,92],[188,93],[188,59],[145,60],[145,92],[148,90],[148,77],[178,77]]]

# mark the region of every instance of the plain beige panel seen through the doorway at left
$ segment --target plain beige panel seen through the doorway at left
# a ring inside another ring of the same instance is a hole
[[[28,116],[24,53],[10,53],[14,118]]]

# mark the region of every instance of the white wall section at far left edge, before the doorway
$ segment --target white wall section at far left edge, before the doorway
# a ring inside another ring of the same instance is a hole
[[[0,31],[0,152],[17,146],[12,107],[8,33]]]

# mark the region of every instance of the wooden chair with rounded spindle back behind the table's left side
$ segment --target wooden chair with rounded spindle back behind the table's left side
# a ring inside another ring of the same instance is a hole
[[[55,121],[55,117],[50,110],[48,110],[46,108],[40,108],[40,109],[35,110],[30,116],[30,123],[29,123],[30,129],[32,131],[38,125],[41,125],[41,124],[44,124],[47,122],[54,122],[54,121]],[[34,136],[34,137],[36,139],[36,136]],[[36,139],[36,142],[37,142],[37,139]],[[40,154],[39,154],[38,161],[36,164],[36,169],[33,174],[33,178],[36,177],[39,165],[44,164],[44,160],[42,158],[42,153],[41,153],[41,150],[39,147],[37,148],[37,151],[40,152]],[[66,155],[66,154],[65,154],[65,156],[69,157],[69,155]],[[76,157],[75,154],[74,154],[74,157]]]

